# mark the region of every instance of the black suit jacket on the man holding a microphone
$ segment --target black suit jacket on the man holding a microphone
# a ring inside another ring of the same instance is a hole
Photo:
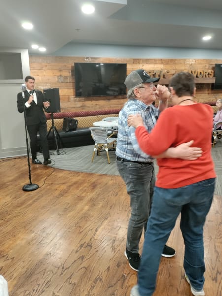
[[[33,101],[30,107],[25,106],[25,111],[26,111],[26,120],[27,120],[27,125],[37,125],[39,123],[44,123],[46,122],[46,116],[44,113],[44,96],[43,93],[40,90],[35,90],[36,95],[37,95],[37,105]],[[23,93],[24,93],[24,98],[23,98]],[[25,102],[28,101],[30,97],[30,94],[28,93],[27,90],[24,92],[20,92],[17,95],[17,108],[19,113],[24,112],[24,104]]]

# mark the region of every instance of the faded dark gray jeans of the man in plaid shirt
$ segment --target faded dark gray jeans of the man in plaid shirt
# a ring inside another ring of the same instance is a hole
[[[155,184],[154,165],[117,160],[117,169],[123,178],[130,196],[131,217],[127,231],[128,251],[139,252],[139,241],[150,214],[151,199]]]

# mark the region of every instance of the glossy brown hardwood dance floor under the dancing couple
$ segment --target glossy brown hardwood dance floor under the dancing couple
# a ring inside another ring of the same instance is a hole
[[[129,198],[120,176],[0,160],[0,274],[10,296],[129,296],[137,281],[124,256]],[[205,224],[205,294],[222,290],[222,198]],[[141,248],[142,248],[141,242]],[[162,258],[154,296],[191,296],[184,279],[179,220]]]

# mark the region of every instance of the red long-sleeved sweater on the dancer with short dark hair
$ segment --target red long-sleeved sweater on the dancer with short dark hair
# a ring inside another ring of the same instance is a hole
[[[196,160],[157,159],[157,187],[179,188],[216,177],[211,157],[212,118],[212,108],[207,104],[175,105],[162,111],[150,134],[143,126],[136,129],[139,146],[149,155],[159,155],[191,140],[193,147],[203,150]]]

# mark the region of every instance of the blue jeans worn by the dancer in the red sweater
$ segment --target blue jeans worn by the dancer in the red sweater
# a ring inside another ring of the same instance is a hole
[[[203,226],[213,200],[214,187],[215,178],[177,189],[154,188],[138,273],[141,296],[152,296],[155,290],[161,252],[180,213],[180,229],[185,244],[184,270],[193,288],[203,288]]]

